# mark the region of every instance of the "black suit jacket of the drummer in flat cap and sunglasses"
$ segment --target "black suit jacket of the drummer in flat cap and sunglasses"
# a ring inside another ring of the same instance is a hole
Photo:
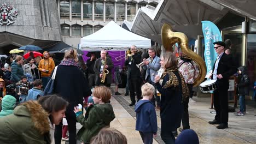
[[[216,63],[216,61],[215,61]],[[213,65],[213,70],[215,69],[215,63]],[[234,63],[231,56],[226,55],[224,52],[222,57],[219,59],[218,69],[217,69],[217,75],[221,74],[223,76],[222,79],[218,79],[217,82],[219,85],[219,88],[229,88],[229,77],[233,74],[235,74],[237,71],[236,64]],[[212,76],[213,79],[213,76]]]

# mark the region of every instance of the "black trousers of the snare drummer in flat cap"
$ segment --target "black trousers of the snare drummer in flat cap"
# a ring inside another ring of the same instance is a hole
[[[228,124],[228,88],[219,86],[219,88],[216,91],[214,91],[213,94],[213,105],[216,111],[215,119],[220,123]]]

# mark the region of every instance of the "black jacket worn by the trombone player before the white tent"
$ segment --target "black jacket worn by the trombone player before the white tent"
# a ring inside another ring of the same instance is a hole
[[[131,64],[129,64],[129,62],[131,62]],[[135,55],[127,58],[127,60],[125,61],[125,65],[128,66],[128,70],[127,70],[128,79],[141,77],[141,71],[139,71],[139,68],[136,65],[139,63],[141,63],[141,55],[138,52],[135,53]]]

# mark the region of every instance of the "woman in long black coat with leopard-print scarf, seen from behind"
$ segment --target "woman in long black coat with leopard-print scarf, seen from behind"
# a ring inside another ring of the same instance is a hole
[[[189,91],[182,74],[178,71],[177,58],[173,53],[166,52],[161,57],[160,64],[165,71],[161,80],[160,76],[155,76],[155,85],[161,93],[161,138],[169,144],[175,143],[172,131],[181,126],[183,100],[188,97]]]

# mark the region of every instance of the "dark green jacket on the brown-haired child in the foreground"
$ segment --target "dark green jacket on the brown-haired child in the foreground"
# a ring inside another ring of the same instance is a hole
[[[114,118],[115,114],[111,104],[90,106],[85,117],[83,115],[77,117],[77,121],[83,125],[77,133],[77,140],[89,143],[90,139],[97,135],[102,128],[109,126]]]

